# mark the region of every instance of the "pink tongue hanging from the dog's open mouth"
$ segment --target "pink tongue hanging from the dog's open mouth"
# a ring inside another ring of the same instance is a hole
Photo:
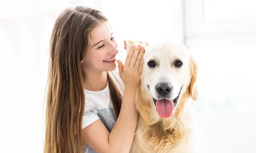
[[[174,103],[172,100],[157,100],[157,113],[161,118],[168,118],[172,115]]]

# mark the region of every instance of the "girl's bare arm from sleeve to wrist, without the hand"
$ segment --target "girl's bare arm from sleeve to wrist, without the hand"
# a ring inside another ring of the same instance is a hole
[[[126,88],[121,111],[111,133],[98,119],[83,129],[83,141],[97,153],[128,153],[138,118],[134,99],[135,90]]]

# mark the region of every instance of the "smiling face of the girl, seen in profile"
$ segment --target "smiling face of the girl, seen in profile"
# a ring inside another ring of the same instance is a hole
[[[103,22],[93,30],[91,41],[92,44],[89,44],[88,51],[81,61],[84,71],[113,71],[116,68],[118,49],[108,22]]]

